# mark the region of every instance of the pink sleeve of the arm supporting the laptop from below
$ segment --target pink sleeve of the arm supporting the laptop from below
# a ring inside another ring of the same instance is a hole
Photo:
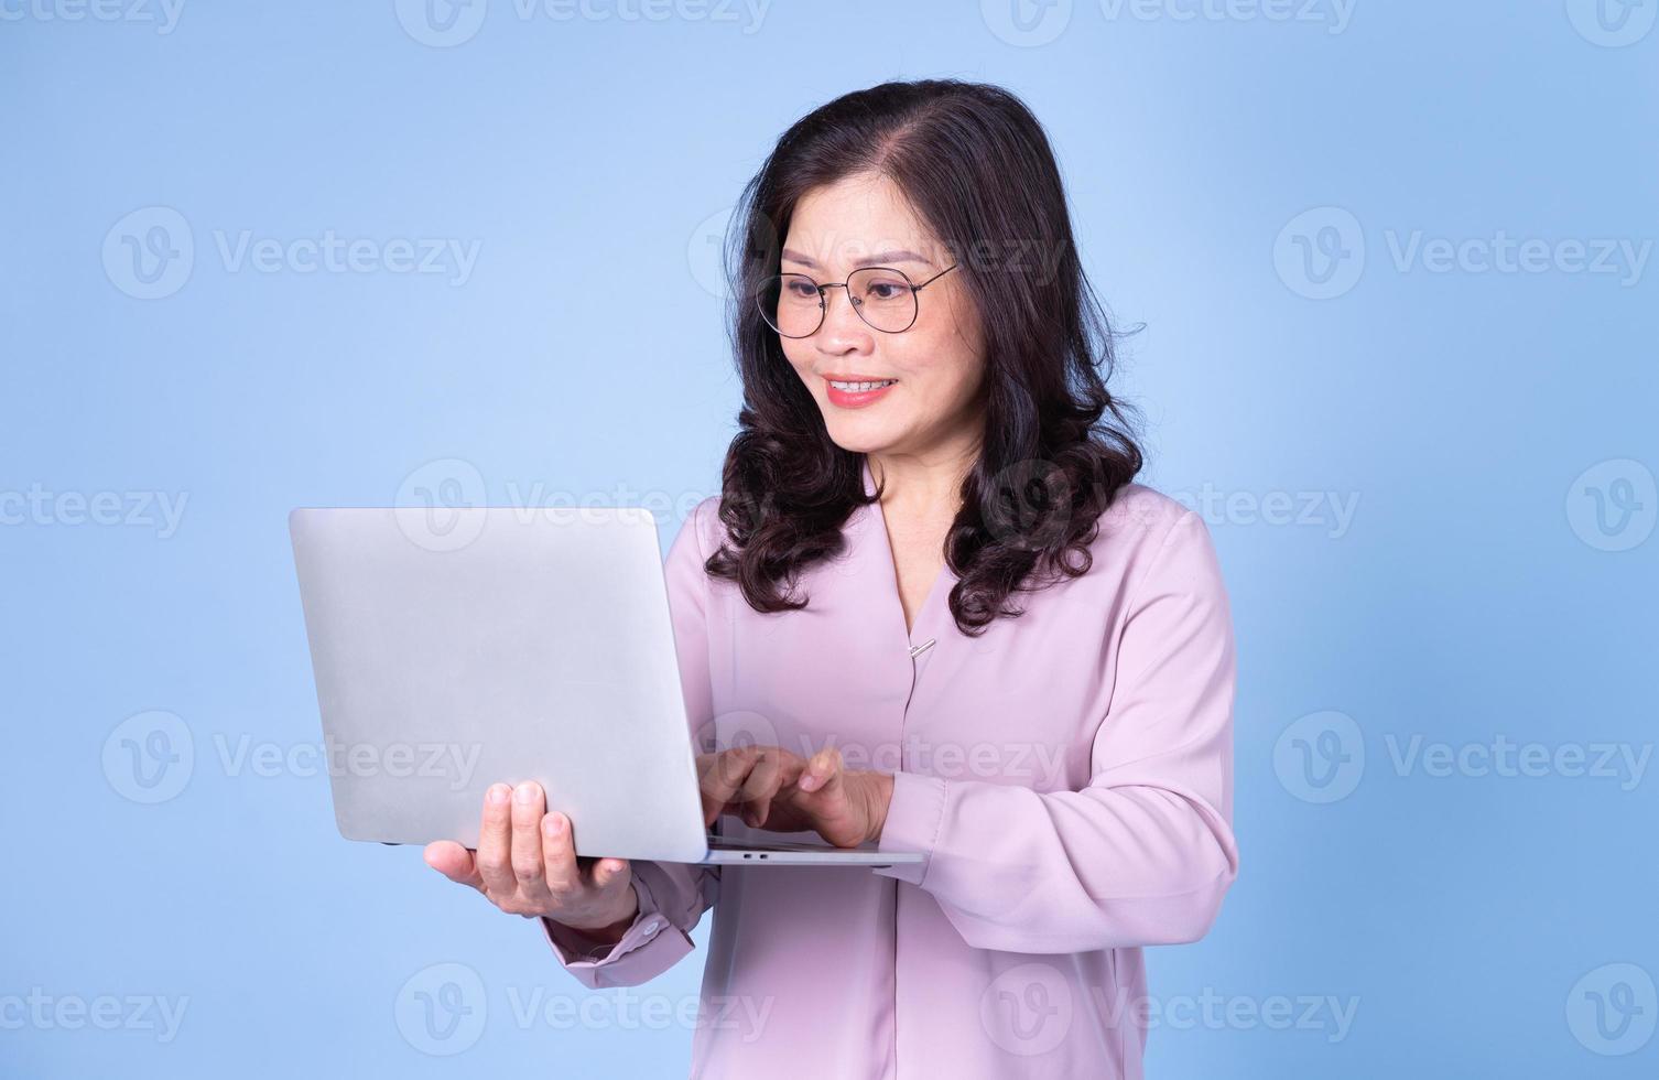
[[[687,738],[713,720],[703,529],[715,513],[715,503],[717,498],[710,496],[692,509],[669,546],[664,564],[674,649],[690,722]],[[635,861],[632,871],[639,914],[614,946],[596,942],[551,919],[538,919],[559,964],[584,985],[639,985],[674,967],[692,951],[690,931],[720,893],[720,869],[715,866]]]

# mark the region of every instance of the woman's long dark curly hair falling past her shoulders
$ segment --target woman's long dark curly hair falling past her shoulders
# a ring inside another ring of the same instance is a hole
[[[893,81],[798,119],[745,186],[727,236],[730,332],[743,406],[727,451],[727,541],[705,571],[750,607],[796,611],[803,569],[838,556],[864,494],[863,455],[836,446],[755,297],[778,272],[800,199],[848,176],[889,178],[957,262],[985,345],[985,433],[944,557],[951,614],[979,635],[1005,601],[1090,567],[1100,514],[1140,473],[1126,411],[1107,392],[1113,332],[1083,274],[1065,189],[1030,109],[1000,86]],[[1035,262],[1035,265],[1032,265]]]

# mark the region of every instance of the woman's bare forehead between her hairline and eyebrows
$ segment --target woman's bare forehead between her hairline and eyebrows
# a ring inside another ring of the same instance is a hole
[[[884,176],[849,176],[801,196],[783,246],[833,269],[878,252],[912,251],[934,259],[932,234],[911,201]]]

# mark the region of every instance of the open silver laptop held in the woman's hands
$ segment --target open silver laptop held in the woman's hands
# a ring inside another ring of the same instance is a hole
[[[347,839],[476,848],[489,785],[534,780],[579,856],[921,861],[703,825],[650,511],[302,508],[289,536]]]

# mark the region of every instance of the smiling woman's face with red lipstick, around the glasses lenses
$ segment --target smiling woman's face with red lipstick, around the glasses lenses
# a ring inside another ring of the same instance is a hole
[[[783,239],[780,272],[844,282],[861,265],[888,265],[922,284],[951,265],[909,201],[884,176],[853,176],[808,192]],[[957,267],[916,294],[914,325],[884,333],[825,292],[828,310],[811,337],[780,337],[783,355],[823,411],[830,438],[854,453],[932,455],[977,448],[984,348],[979,317]],[[808,294],[810,295],[810,294]],[[831,380],[898,380],[879,393],[844,392]]]

